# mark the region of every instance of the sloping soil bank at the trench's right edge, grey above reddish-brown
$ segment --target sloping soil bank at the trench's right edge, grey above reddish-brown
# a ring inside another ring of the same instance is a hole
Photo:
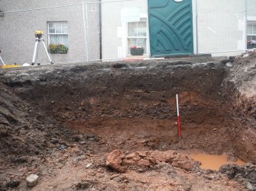
[[[256,158],[256,52],[238,57],[223,82],[222,94],[238,154],[246,161]]]

